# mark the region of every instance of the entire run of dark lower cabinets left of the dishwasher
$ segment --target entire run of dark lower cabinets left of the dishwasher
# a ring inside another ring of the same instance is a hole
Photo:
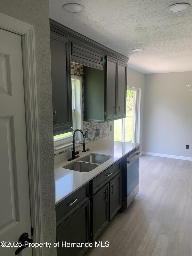
[[[77,243],[94,242],[121,206],[122,169],[118,161],[56,205],[57,256],[83,255],[88,247]]]

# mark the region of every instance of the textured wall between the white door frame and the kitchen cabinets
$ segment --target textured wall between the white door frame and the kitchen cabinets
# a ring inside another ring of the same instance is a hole
[[[55,189],[52,128],[52,91],[48,0],[1,0],[0,12],[34,25],[38,93],[38,130],[41,171],[43,241],[55,242]],[[56,255],[53,246],[44,255]]]

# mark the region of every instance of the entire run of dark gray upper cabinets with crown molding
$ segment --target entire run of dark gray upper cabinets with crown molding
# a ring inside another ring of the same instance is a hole
[[[51,40],[53,113],[56,108],[59,108],[56,110],[58,113],[54,134],[71,130],[70,58],[71,61],[84,65],[84,121],[108,122],[124,118],[129,58],[54,20],[50,20],[50,30],[57,34],[57,38],[51,38],[61,41],[66,47],[65,50],[64,47],[59,48],[59,43],[54,44]],[[61,48],[63,53],[65,52],[66,59],[64,59],[64,54],[61,54]],[[57,58],[52,57],[52,55],[57,56]],[[60,63],[62,63],[63,68],[61,68]],[[58,89],[55,89],[55,84],[59,84]],[[63,84],[64,87],[62,87]],[[62,97],[63,100],[61,101]],[[62,118],[60,119],[60,117]]]

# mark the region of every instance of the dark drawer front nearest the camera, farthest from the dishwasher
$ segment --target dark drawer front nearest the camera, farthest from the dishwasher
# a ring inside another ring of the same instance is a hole
[[[73,194],[56,205],[56,226],[61,224],[71,213],[89,200],[89,184],[79,188]]]

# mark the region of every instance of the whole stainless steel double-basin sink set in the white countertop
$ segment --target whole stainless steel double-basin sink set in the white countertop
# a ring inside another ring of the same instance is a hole
[[[90,172],[110,158],[112,158],[110,155],[89,154],[73,163],[63,166],[63,168],[78,172]]]

